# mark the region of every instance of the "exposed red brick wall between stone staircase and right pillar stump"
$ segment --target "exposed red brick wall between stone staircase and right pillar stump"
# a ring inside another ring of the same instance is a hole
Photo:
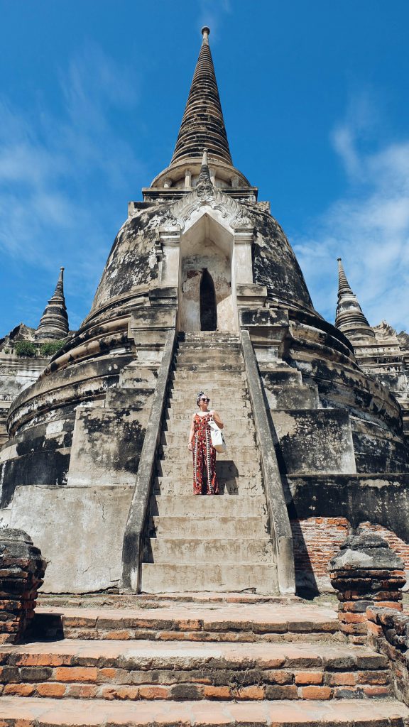
[[[349,535],[346,518],[306,518],[290,521],[298,588],[332,590],[327,566]]]

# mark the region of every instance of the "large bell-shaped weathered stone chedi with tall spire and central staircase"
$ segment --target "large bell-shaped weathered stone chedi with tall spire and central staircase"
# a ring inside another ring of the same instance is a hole
[[[368,321],[344,278],[338,327],[314,310],[233,166],[202,36],[170,165],[130,202],[79,331],[9,411],[1,518],[41,547],[45,591],[293,593],[329,586],[351,528],[409,543],[402,409],[341,329],[350,308],[373,340]],[[191,494],[199,388],[229,441],[213,498]]]

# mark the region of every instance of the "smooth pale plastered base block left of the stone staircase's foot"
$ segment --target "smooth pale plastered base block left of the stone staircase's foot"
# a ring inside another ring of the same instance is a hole
[[[83,593],[118,585],[131,498],[131,486],[17,488],[10,526],[31,529],[48,563],[44,590]]]

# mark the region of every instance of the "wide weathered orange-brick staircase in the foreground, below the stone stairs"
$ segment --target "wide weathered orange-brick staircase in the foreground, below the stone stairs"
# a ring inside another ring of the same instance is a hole
[[[190,598],[38,608],[41,640],[0,648],[0,725],[408,727],[386,657],[329,606]]]

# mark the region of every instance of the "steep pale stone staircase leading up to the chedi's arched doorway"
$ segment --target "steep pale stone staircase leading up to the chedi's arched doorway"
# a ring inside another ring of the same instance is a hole
[[[191,414],[204,390],[225,424],[220,495],[194,496]],[[239,338],[184,334],[175,356],[142,564],[144,593],[277,593],[261,465]]]

